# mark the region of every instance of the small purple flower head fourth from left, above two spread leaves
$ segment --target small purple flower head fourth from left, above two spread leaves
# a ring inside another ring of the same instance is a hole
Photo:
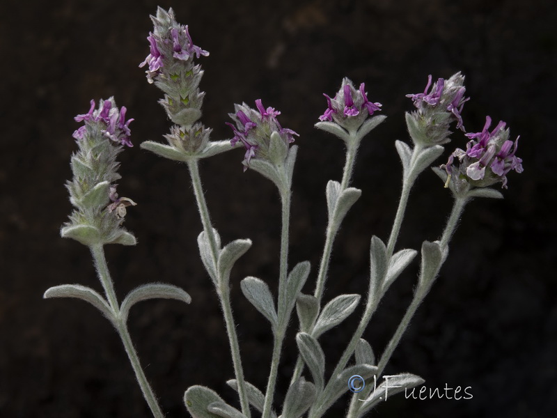
[[[334,98],[330,98],[329,95],[323,93],[327,99],[327,110],[319,117],[319,120],[322,122],[335,121],[338,125],[347,129],[359,127],[368,116],[381,110],[382,107],[381,103],[370,102],[365,88],[366,85],[362,83],[356,90],[350,79],[343,79],[340,90]]]

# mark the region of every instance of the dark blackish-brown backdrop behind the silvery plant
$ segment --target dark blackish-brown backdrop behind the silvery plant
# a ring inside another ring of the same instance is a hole
[[[386,123],[363,141],[352,184],[363,196],[340,231],[325,299],[364,293],[369,240],[386,240],[400,192],[395,139],[407,141],[407,93],[427,75],[466,75],[469,132],[489,114],[521,135],[524,173],[511,173],[503,201],[480,199],[466,209],[450,256],[418,310],[388,373],[410,371],[427,387],[470,386],[471,400],[379,405],[384,417],[550,417],[557,399],[556,164],[554,103],[557,64],[553,0],[421,1],[161,1],[189,24],[207,92],[203,122],[212,139],[233,103],[262,98],[300,134],[291,225],[290,265],[315,270],[326,226],[324,187],[340,180],[343,144],[313,129],[343,76],[366,82],[383,103]],[[89,100],[114,95],[128,108],[135,147],[121,155],[119,191],[138,204],[125,225],[136,247],[107,247],[121,298],[148,281],[185,288],[190,305],[143,302],[130,328],[146,374],[168,417],[185,417],[190,385],[217,390],[233,377],[217,297],[198,259],[201,223],[184,165],[139,148],[162,140],[170,123],[137,65],[148,54],[148,15],[157,2],[4,1],[0,13],[0,415],[1,417],[148,417],[121,343],[107,320],[78,300],[42,300],[63,283],[100,290],[88,251],[59,237],[71,206],[73,116]],[[450,149],[464,147],[457,133]],[[223,242],[251,238],[233,270],[233,306],[246,378],[264,389],[271,353],[267,322],[240,292],[246,275],[276,291],[280,209],[274,186],[242,173],[242,151],[201,164],[214,225]],[[446,155],[439,160],[439,164]],[[442,161],[443,160],[443,161]],[[432,173],[421,176],[409,202],[398,247],[419,249],[439,237],[450,210],[448,192]],[[381,353],[411,298],[417,262],[386,295],[366,332]],[[313,282],[312,282],[313,284]],[[306,292],[313,292],[311,286]],[[361,309],[322,338],[332,368]],[[285,348],[276,405],[295,362],[296,320]],[[329,369],[331,371],[331,369]],[[343,416],[345,402],[330,417]]]

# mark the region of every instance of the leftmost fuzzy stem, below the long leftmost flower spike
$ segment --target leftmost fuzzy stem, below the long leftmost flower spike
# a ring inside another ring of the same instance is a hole
[[[118,305],[118,299],[116,298],[116,292],[114,291],[114,284],[110,277],[110,272],[107,265],[107,259],[104,257],[104,248],[101,244],[91,246],[91,254],[93,254],[93,260],[95,261],[95,268],[97,269],[97,274],[99,275],[100,282],[104,288],[104,293],[107,296],[110,307],[114,314],[114,326],[120,335],[120,339],[124,344],[124,348],[127,353],[127,357],[130,359],[130,363],[135,372],[137,382],[141,387],[141,392],[143,392],[143,397],[147,401],[149,408],[152,412],[153,417],[163,418],[164,415],[157,402],[157,397],[155,392],[153,392],[152,387],[143,373],[141,368],[141,363],[139,362],[139,357],[137,356],[136,350],[132,343],[132,338],[130,337],[130,332],[127,330],[127,325],[120,320],[120,307]]]

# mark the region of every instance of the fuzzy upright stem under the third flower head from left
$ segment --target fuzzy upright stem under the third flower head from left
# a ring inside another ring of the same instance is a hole
[[[290,185],[289,181],[284,182]],[[281,264],[278,273],[278,324],[274,330],[274,345],[271,359],[271,370],[269,371],[269,379],[267,380],[267,390],[265,392],[265,404],[263,405],[262,418],[269,418],[273,405],[274,389],[276,386],[276,378],[278,374],[278,364],[281,361],[281,351],[285,336],[286,327],[288,326],[289,312],[287,309],[288,301],[286,300],[286,280],[288,279],[288,229],[290,226],[290,187],[280,190],[282,202],[282,231],[281,231]]]

